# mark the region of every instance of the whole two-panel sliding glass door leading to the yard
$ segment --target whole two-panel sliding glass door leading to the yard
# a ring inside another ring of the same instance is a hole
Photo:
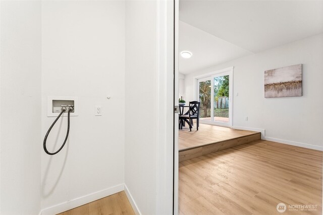
[[[197,79],[200,122],[232,126],[232,71]]]

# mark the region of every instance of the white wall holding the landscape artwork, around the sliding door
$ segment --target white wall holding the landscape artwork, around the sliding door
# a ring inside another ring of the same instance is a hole
[[[196,71],[185,77],[187,99],[194,99],[194,76],[234,66],[234,126],[265,129],[267,139],[322,150],[322,47],[320,34]],[[303,96],[264,98],[264,71],[299,63],[303,64]]]

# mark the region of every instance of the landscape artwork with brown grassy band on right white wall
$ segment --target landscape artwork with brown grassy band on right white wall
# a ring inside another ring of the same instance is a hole
[[[302,96],[302,64],[264,71],[264,97]]]

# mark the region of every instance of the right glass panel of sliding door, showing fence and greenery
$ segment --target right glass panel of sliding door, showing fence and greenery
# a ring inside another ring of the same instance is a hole
[[[229,76],[213,78],[214,122],[229,123]]]

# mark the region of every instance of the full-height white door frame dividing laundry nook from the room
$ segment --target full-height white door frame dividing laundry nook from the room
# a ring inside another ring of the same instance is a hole
[[[157,214],[178,214],[178,15],[179,0],[157,1],[156,25],[156,207]],[[176,95],[176,97],[175,97]],[[177,123],[176,123],[177,122]]]

